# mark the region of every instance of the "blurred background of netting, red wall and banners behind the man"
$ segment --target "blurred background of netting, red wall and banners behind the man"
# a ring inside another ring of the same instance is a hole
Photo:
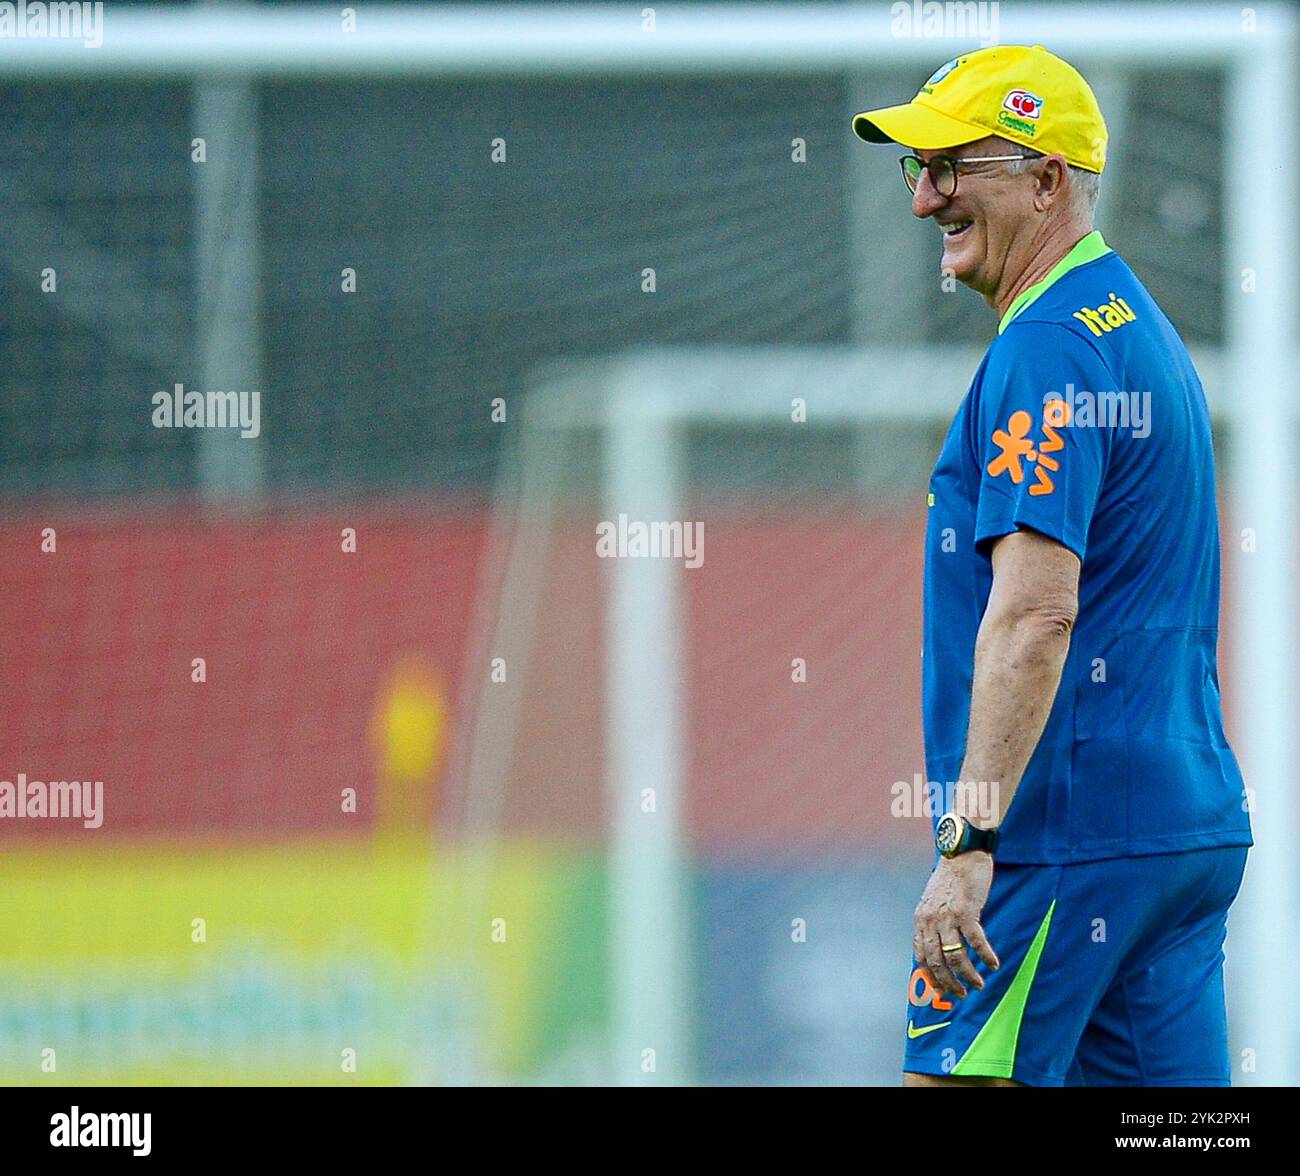
[[[105,810],[0,821],[0,1080],[897,1081],[924,491],[992,320],[848,120],[976,42],[538,69],[516,22],[541,53],[572,10],[498,4],[421,68],[452,18],[396,4],[359,29],[408,26],[400,61],[286,66],[339,10],[204,10],[287,23],[222,57],[110,3],[103,49],[0,39],[0,778]],[[1070,56],[1227,495],[1240,107],[1212,55]],[[153,428],[178,383],[259,390],[260,435]],[[597,559],[625,503],[702,520],[703,565]],[[655,833],[610,799],[647,781]]]

